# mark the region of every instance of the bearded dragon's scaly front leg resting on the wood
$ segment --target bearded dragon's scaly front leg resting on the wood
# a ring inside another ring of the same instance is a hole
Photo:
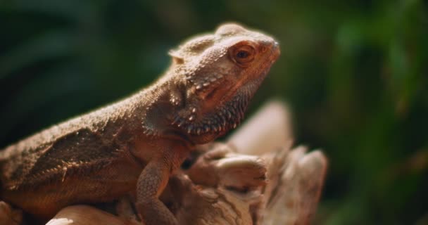
[[[146,225],[178,225],[177,219],[159,196],[170,174],[180,166],[179,154],[160,154],[144,167],[137,181],[137,211]],[[184,158],[183,158],[184,159]]]

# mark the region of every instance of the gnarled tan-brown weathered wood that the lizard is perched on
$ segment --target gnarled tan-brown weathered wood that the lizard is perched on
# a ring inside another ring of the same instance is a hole
[[[171,177],[161,197],[180,224],[310,224],[327,159],[320,150],[290,150],[289,121],[287,108],[271,102],[226,143],[196,150],[191,166]],[[48,224],[141,224],[129,203],[119,205],[119,217],[86,205],[65,207]],[[8,219],[0,221],[19,224],[12,212],[0,205],[0,219]]]

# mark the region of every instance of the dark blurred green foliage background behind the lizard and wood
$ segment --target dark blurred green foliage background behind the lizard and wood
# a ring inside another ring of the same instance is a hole
[[[330,159],[317,224],[428,224],[428,1],[1,1],[0,144],[130,94],[238,21],[282,56],[256,95]]]

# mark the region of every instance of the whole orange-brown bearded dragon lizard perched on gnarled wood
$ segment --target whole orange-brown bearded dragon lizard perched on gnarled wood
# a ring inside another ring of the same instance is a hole
[[[170,51],[157,82],[0,152],[0,198],[39,219],[66,205],[134,192],[147,225],[177,224],[158,200],[196,144],[241,122],[279,56],[277,42],[236,24]]]

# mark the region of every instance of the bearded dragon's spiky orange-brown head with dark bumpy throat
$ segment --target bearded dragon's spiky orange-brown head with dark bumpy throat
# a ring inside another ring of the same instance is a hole
[[[206,143],[241,122],[279,46],[266,34],[225,24],[214,34],[189,39],[170,56],[184,86],[172,126],[194,143]]]

